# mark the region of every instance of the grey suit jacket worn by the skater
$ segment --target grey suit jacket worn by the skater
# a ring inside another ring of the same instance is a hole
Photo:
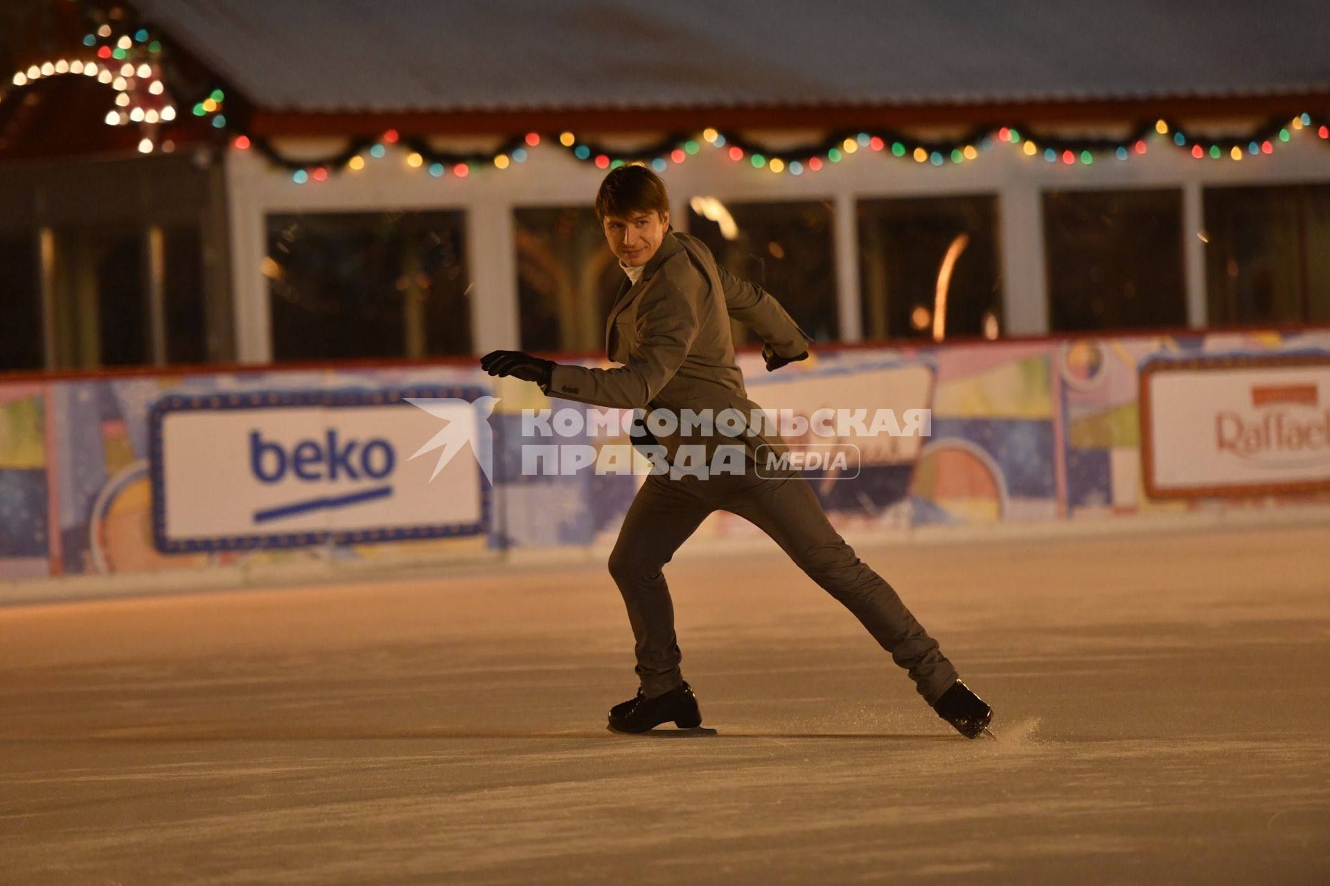
[[[759,406],[743,389],[734,364],[729,319],[757,332],[777,355],[794,357],[813,341],[785,308],[757,286],[716,263],[696,236],[666,232],[641,279],[625,275],[605,320],[605,355],[624,365],[589,369],[557,364],[545,389],[551,397],[620,409],[737,409],[749,417]],[[773,416],[774,418],[774,416]],[[750,453],[761,444],[786,450],[779,434],[726,436],[718,430],[656,434],[673,462],[682,444],[706,446],[742,442]],[[763,458],[765,461],[765,458]]]

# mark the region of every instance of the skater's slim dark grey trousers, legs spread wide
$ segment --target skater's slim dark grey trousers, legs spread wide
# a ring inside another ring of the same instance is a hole
[[[713,510],[747,519],[770,535],[809,578],[863,623],[910,672],[928,704],[956,681],[956,669],[886,580],[854,554],[827,521],[798,472],[762,478],[751,473],[705,480],[649,474],[628,509],[609,555],[609,573],[628,606],[642,692],[654,697],[682,681],[674,606],[661,567]]]

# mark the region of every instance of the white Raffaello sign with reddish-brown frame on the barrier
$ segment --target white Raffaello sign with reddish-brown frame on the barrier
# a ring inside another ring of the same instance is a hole
[[[1330,489],[1330,356],[1148,364],[1141,457],[1154,498]]]

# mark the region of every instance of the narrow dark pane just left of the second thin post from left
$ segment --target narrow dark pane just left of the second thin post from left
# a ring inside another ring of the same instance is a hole
[[[96,235],[89,239],[100,240]],[[152,363],[144,238],[126,235],[92,246],[101,365]]]

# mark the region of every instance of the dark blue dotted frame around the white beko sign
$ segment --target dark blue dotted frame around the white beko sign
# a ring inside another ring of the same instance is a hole
[[[166,538],[166,487],[162,477],[162,422],[168,413],[196,409],[263,409],[302,406],[382,406],[407,399],[454,399],[473,402],[488,392],[477,387],[412,387],[391,389],[339,391],[253,391],[168,395],[153,402],[148,412],[149,478],[153,494],[153,543],[164,554],[198,551],[242,551],[265,547],[305,547],[309,545],[368,545],[427,538],[487,535],[493,518],[493,487],[480,468],[480,521],[412,526],[408,529],[362,529],[355,531],[279,533],[270,535],[235,535],[225,538]],[[410,405],[410,404],[407,404]]]

